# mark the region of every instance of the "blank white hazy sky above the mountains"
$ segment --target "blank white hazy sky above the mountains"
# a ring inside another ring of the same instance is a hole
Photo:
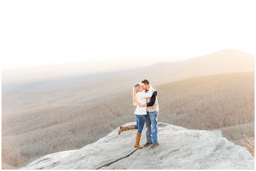
[[[255,6],[255,0],[5,0],[1,65],[194,57],[225,48],[255,54]]]

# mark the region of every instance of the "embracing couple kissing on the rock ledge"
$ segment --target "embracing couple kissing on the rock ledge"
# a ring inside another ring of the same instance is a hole
[[[135,110],[136,125],[120,126],[119,135],[121,132],[131,129],[137,129],[136,141],[134,147],[143,148],[150,145],[154,148],[158,145],[158,128],[157,128],[157,91],[152,88],[148,80],[143,80],[142,84],[133,86],[133,105]],[[144,125],[146,124],[146,143],[140,146],[140,137]]]

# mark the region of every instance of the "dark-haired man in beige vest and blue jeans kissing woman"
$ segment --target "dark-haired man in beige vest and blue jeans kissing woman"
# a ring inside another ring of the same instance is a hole
[[[148,92],[149,90],[149,81],[142,81],[143,89]],[[150,145],[150,148],[154,148],[158,145],[158,128],[157,128],[157,115],[158,115],[158,102],[157,102],[157,91],[153,88],[152,96],[146,98],[146,104],[138,103],[139,107],[147,107],[147,115],[146,115],[146,143],[143,147]]]

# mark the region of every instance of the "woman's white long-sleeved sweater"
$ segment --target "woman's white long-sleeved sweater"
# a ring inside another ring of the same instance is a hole
[[[146,104],[147,103],[146,98],[151,97],[151,96],[152,96],[152,86],[151,85],[149,85],[148,93],[140,92],[140,91],[136,93],[137,102],[139,102],[141,104]],[[137,108],[136,108],[134,114],[136,114],[136,115],[146,115],[147,114],[147,107],[139,107],[137,105]]]

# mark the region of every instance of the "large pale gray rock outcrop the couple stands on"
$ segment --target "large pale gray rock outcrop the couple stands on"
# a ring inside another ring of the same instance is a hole
[[[124,126],[131,124],[135,123]],[[254,169],[246,148],[227,141],[220,131],[158,123],[159,145],[137,149],[137,130],[120,135],[118,130],[79,150],[49,154],[21,169]],[[145,134],[144,128],[141,145]]]

